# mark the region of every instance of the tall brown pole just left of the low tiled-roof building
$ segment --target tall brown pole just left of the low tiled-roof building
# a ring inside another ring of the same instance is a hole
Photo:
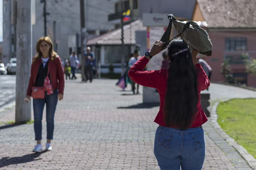
[[[86,4],[87,5],[87,4]],[[84,17],[84,0],[80,0],[80,24],[81,24],[81,75],[82,81],[84,81],[84,47],[86,47],[86,28],[85,28],[85,17]]]

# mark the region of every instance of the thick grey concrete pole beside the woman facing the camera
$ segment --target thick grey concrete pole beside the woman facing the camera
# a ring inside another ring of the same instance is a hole
[[[17,1],[17,72],[15,123],[31,119],[31,103],[24,102],[32,62],[31,0]]]

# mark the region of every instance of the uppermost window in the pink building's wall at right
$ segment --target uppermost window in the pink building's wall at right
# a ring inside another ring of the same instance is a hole
[[[225,38],[226,51],[247,51],[247,39],[244,37]]]

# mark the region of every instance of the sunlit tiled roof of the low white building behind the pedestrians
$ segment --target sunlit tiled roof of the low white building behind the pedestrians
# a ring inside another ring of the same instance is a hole
[[[128,25],[124,26],[124,44],[136,44],[135,42],[135,32],[136,31],[146,31],[147,27],[143,26],[141,20],[136,20]],[[98,37],[94,37],[87,41],[87,45],[121,45],[121,29],[116,29],[114,31],[108,32]]]

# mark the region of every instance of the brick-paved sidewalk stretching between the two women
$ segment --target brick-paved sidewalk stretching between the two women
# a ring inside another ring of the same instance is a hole
[[[141,94],[123,92],[115,83],[97,79],[91,84],[66,82],[64,100],[55,113],[51,152],[32,154],[33,124],[0,127],[0,169],[159,170],[153,153],[158,107],[142,104]],[[220,87],[212,84],[210,91],[214,88]],[[14,119],[14,108],[0,114],[1,122]],[[45,138],[45,112],[43,121]],[[204,125],[207,153],[203,169],[236,170],[212,140],[217,135],[209,122]],[[235,159],[239,162],[241,157]],[[251,170],[244,162],[240,165],[241,170]]]

